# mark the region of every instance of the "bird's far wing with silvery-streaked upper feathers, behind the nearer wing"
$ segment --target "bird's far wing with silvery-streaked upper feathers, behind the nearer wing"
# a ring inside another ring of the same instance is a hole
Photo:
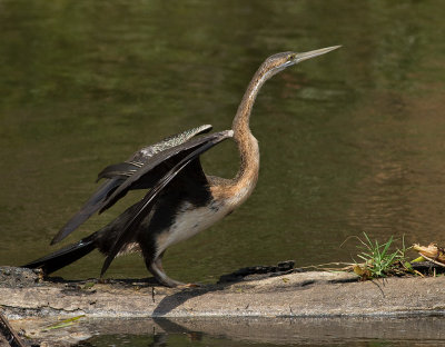
[[[51,245],[59,242],[66,238],[69,234],[76,230],[82,222],[85,222],[91,215],[93,215],[102,205],[105,199],[126,179],[131,177],[141,167],[151,160],[152,157],[161,153],[165,150],[180,146],[192,137],[208,132],[211,130],[211,126],[205,125],[184,132],[165,138],[158,143],[147,146],[135,152],[127,161],[108,166],[98,176],[98,180],[101,178],[108,178],[108,180],[102,184],[99,189],[83,204],[80,210],[71,217],[70,220],[59,230],[51,241]],[[135,185],[131,189],[139,188],[150,188],[154,182],[157,181],[159,176],[164,171],[159,167],[157,171],[152,172],[151,179],[147,177],[139,186]]]

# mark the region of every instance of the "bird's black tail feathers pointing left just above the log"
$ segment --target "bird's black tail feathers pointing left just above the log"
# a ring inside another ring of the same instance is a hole
[[[40,268],[46,275],[57,271],[58,269],[75,262],[96,248],[93,236],[95,234],[81,239],[76,244],[68,245],[59,250],[56,250],[48,256],[23,265],[22,267],[30,269]]]

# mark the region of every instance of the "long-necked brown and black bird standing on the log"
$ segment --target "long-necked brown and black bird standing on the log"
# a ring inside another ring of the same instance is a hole
[[[129,190],[146,189],[147,194],[90,236],[23,267],[41,268],[49,275],[98,249],[106,257],[100,271],[102,277],[117,256],[139,251],[147,269],[160,285],[186,286],[167,276],[162,257],[168,247],[209,228],[245,202],[254,191],[259,172],[259,147],[250,131],[249,120],[260,88],[284,69],[339,47],[287,51],[268,57],[248,85],[231,129],[208,133],[211,126],[196,127],[144,147],[123,162],[106,167],[98,175],[98,180],[106,181],[60,229],[52,245],[95,212],[110,208]],[[234,140],[238,147],[238,172],[233,179],[206,175],[200,155],[227,139]]]

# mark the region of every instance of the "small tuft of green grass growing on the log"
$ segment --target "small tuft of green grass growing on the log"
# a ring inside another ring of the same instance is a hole
[[[362,251],[357,255],[364,260],[364,264],[354,266],[354,271],[363,279],[387,277],[389,275],[402,275],[412,271],[409,261],[406,260],[406,251],[411,248],[405,247],[405,240],[402,239],[402,248],[394,250],[392,248],[393,236],[384,244],[377,240],[374,242],[366,232],[363,232],[365,239],[357,239],[362,245],[357,246]]]

